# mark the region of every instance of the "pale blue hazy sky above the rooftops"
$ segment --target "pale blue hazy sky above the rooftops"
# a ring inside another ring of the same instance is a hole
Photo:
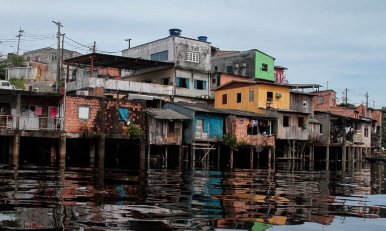
[[[208,36],[221,50],[258,49],[275,57],[275,65],[288,68],[290,84],[320,84],[324,90],[328,81],[339,100],[347,88],[349,103],[365,103],[368,92],[369,106],[386,106],[383,0],[0,0],[0,6],[0,53],[15,51],[20,28],[21,52],[56,48],[52,21],[77,42],[65,38],[64,48],[83,54],[90,51],[81,45],[95,41],[97,52],[121,55],[125,39],[133,47],[179,28],[184,37]]]

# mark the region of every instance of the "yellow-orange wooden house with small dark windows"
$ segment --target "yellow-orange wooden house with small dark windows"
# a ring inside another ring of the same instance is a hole
[[[267,114],[267,108],[289,110],[289,86],[232,80],[215,89],[215,107]]]

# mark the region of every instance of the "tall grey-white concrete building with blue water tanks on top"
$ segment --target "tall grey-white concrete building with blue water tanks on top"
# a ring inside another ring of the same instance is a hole
[[[170,29],[170,35],[122,51],[122,55],[154,61],[171,62],[170,68],[153,68],[122,73],[126,81],[161,84],[173,87],[173,102],[208,103],[210,99],[211,43],[180,36],[181,30]]]

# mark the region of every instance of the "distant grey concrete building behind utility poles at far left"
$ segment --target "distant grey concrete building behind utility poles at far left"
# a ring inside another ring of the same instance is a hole
[[[33,61],[38,63],[47,64],[45,71],[40,72],[40,81],[56,81],[56,68],[57,68],[57,49],[46,47],[37,50],[31,50],[24,52],[24,58],[27,61]],[[63,50],[63,59],[73,58],[80,56],[82,54],[71,51]],[[72,71],[73,68],[71,68]],[[64,70],[65,72],[65,70]]]

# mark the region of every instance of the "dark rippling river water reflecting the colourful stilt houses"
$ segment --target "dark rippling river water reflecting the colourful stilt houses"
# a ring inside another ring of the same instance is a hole
[[[186,164],[186,163],[185,163]],[[386,165],[99,171],[0,168],[0,226],[75,230],[386,230]]]

